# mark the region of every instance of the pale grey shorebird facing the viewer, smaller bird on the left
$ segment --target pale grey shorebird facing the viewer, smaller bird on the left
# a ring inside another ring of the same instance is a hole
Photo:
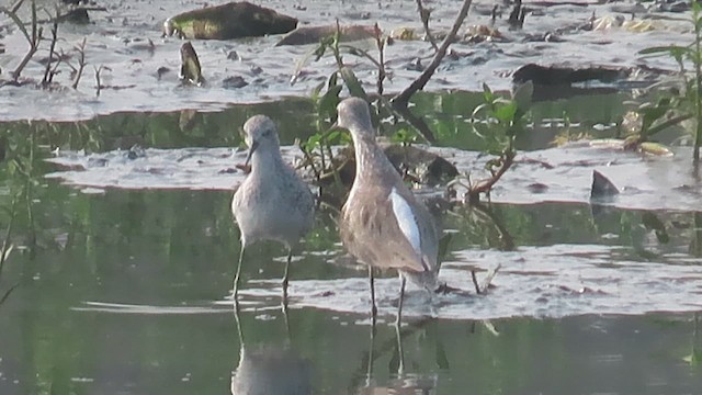
[[[287,282],[293,248],[313,227],[315,199],[305,182],[281,157],[275,124],[264,115],[244,124],[249,147],[246,165],[251,172],[231,200],[231,212],[241,233],[241,252],[234,279],[237,300],[244,250],[258,240],[275,240],[287,248],[283,275],[283,304],[287,304]]]

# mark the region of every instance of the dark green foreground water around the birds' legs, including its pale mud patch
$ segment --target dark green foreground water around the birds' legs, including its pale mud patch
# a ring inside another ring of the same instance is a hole
[[[365,271],[337,259],[324,215],[293,263],[287,320],[279,285],[285,252],[251,248],[240,314],[247,354],[228,298],[239,248],[230,193],[42,184],[36,247],[18,238],[0,282],[20,283],[0,307],[3,394],[228,393],[241,363],[275,372],[260,361],[268,353],[306,361],[319,394],[680,394],[702,385],[699,366],[686,362],[702,347],[693,320],[700,261],[689,249],[699,242],[691,222],[699,214],[656,213],[668,242],[642,226],[644,212],[598,217],[584,204],[494,206],[511,244],[462,218],[467,213],[448,216],[442,279],[465,294],[434,298],[432,319],[427,295],[409,292],[398,372],[396,335],[385,324],[397,280],[378,281],[371,346]],[[475,295],[467,270],[482,279],[497,262],[496,287]]]

